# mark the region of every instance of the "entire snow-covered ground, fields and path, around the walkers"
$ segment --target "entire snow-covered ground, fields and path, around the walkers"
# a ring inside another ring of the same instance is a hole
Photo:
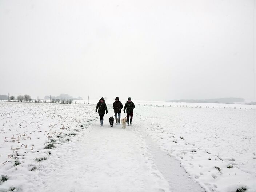
[[[96,102],[0,102],[0,191],[255,191],[255,105],[133,101],[123,130]]]

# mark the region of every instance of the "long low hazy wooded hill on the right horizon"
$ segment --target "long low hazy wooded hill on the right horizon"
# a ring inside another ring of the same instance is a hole
[[[180,100],[169,100],[168,102],[185,102],[185,103],[235,103],[244,102],[244,98],[217,98],[217,99],[180,99]],[[255,102],[246,103],[249,105],[255,105]]]

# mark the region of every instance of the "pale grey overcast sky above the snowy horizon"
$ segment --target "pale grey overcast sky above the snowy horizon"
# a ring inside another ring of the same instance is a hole
[[[0,0],[0,94],[255,99],[255,0]]]

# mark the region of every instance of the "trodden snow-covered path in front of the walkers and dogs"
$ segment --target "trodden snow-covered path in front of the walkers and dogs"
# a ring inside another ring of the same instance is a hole
[[[137,131],[138,127],[103,127],[98,121],[58,146],[42,162],[35,180],[42,184],[25,191],[204,191],[180,164]],[[151,151],[148,149],[150,144]],[[161,162],[161,160],[163,160]],[[169,163],[163,163],[168,161]],[[163,172],[163,173],[161,173]]]

